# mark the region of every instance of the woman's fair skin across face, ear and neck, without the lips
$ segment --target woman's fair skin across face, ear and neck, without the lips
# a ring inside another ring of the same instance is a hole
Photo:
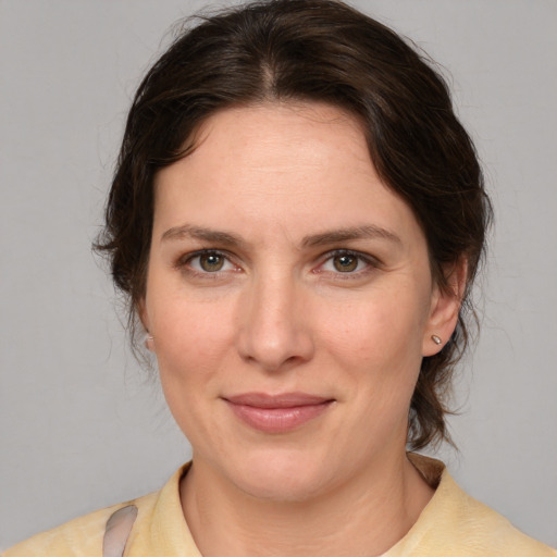
[[[193,447],[181,498],[202,555],[372,556],[403,537],[433,494],[405,453],[410,399],[458,309],[351,116],[263,104],[205,122],[157,176],[139,307]],[[252,392],[330,403],[265,432],[226,401]]]

